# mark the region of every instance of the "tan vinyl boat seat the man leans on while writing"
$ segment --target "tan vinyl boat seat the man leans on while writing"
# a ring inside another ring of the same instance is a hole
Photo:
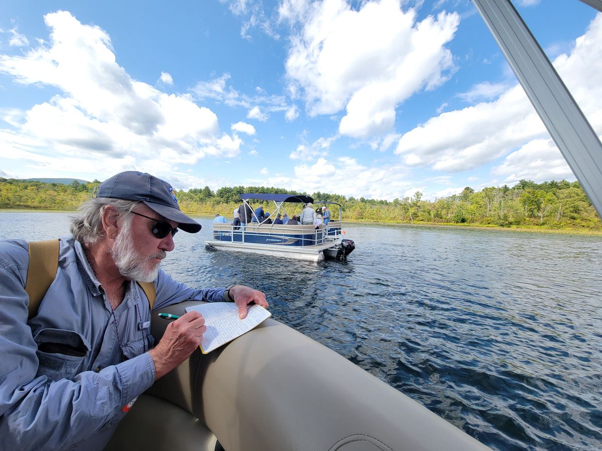
[[[187,301],[161,308],[183,314]],[[152,321],[155,338],[168,321]],[[198,420],[197,420],[198,419]],[[211,431],[211,432],[209,432]],[[118,450],[470,451],[488,449],[336,352],[267,319],[207,355],[197,349],[140,397]],[[213,446],[213,447],[212,447]]]

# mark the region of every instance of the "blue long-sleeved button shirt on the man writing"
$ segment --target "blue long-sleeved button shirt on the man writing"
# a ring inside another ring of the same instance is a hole
[[[122,408],[155,381],[149,302],[129,283],[113,314],[81,244],[67,237],[57,277],[27,321],[28,264],[25,241],[0,241],[0,449],[101,450]],[[225,300],[224,288],[192,289],[163,271],[154,284],[154,310]]]

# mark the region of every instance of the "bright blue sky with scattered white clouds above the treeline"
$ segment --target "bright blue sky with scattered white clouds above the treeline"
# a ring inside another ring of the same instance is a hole
[[[602,14],[513,0],[602,135]],[[575,180],[470,0],[0,3],[0,177],[393,200]]]

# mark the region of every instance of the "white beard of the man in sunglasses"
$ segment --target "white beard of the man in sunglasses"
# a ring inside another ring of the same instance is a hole
[[[151,256],[141,256],[134,248],[134,241],[131,234],[131,221],[123,221],[121,230],[117,233],[117,238],[111,247],[111,256],[119,273],[128,278],[140,282],[152,282],[159,274],[161,262],[154,263],[149,268],[149,260],[167,256],[166,251],[159,251]]]

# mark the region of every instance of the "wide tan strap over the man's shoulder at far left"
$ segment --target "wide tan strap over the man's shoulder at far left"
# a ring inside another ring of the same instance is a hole
[[[58,269],[58,239],[29,242],[29,267],[25,291],[29,295],[29,317],[37,314]]]

